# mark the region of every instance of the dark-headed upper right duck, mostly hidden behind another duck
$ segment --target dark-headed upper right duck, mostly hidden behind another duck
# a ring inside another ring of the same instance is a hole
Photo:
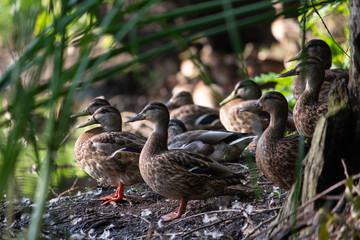
[[[332,54],[329,45],[321,39],[312,39],[305,44],[305,47],[300,51],[295,57],[290,58],[287,62],[292,62],[295,60],[300,60],[302,55],[305,53],[305,56],[317,57],[319,58],[325,68],[324,82],[321,86],[319,93],[319,102],[327,102],[329,100],[329,91],[331,84],[335,79],[341,78],[346,81],[349,80],[349,71],[345,69],[330,69],[332,65]],[[286,77],[288,74],[280,74],[278,77]],[[301,77],[298,76],[293,80],[292,89],[293,96],[295,99],[299,99],[301,93],[305,90],[305,83],[302,81]]]

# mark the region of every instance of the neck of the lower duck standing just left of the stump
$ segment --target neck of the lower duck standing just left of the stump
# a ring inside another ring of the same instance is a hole
[[[270,124],[263,133],[263,135],[270,136],[274,139],[284,137],[287,121],[287,107],[286,109],[276,110],[270,113]]]

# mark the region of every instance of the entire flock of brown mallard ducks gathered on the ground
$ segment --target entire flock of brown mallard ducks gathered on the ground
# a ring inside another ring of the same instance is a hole
[[[72,115],[90,115],[78,128],[100,125],[80,135],[75,158],[91,177],[118,187],[114,195],[100,198],[104,205],[123,200],[124,186],[142,182],[162,196],[180,200],[177,211],[162,216],[164,221],[181,217],[189,200],[251,193],[253,187],[243,183],[245,176],[222,162],[238,159],[253,140],[258,168],[280,188],[290,189],[299,139],[305,139],[306,153],[316,122],[327,111],[331,83],[348,79],[346,70],[329,69],[331,51],[322,40],[309,41],[290,59],[294,60],[299,60],[296,66],[279,75],[298,75],[293,82],[298,99],[293,112],[281,93],[262,95],[254,81],[243,80],[220,103],[220,110],[195,105],[189,92],[174,95],[166,104],[146,105],[126,121],[150,122],[153,130],[146,139],[122,131],[120,112],[107,100],[96,98]],[[304,138],[285,136],[294,127]]]

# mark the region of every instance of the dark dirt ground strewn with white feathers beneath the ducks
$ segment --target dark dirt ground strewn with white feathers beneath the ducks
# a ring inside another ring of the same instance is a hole
[[[245,162],[226,165],[235,171],[246,168]],[[116,188],[77,189],[46,203],[41,239],[248,239],[277,216],[286,195],[259,171],[256,175],[258,194],[190,201],[186,213],[172,222],[160,217],[177,210],[179,202],[157,195],[146,184],[126,187],[127,201],[106,206],[96,199]],[[5,219],[7,205],[0,204],[1,236],[26,235],[32,202],[15,202],[11,224]]]

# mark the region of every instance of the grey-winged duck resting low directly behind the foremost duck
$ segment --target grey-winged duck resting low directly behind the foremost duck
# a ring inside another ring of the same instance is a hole
[[[186,131],[184,123],[171,119],[168,128],[168,148],[183,149],[205,155],[218,162],[235,161],[255,136],[218,130]]]

